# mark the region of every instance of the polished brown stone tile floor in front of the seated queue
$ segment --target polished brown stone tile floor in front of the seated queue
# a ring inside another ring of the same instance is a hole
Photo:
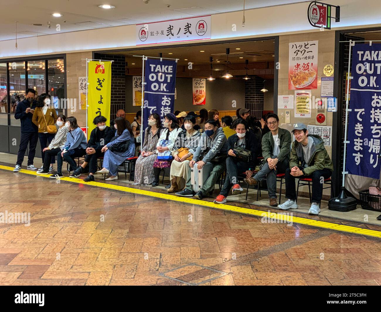
[[[0,170],[0,285],[381,284],[377,238],[159,197]]]

